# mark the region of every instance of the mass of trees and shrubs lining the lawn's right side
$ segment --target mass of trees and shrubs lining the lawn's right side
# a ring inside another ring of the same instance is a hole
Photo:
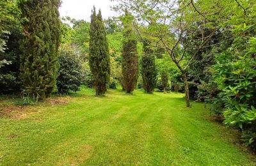
[[[255,35],[253,0],[118,0],[129,10],[141,40],[164,49],[179,69],[190,98],[210,102],[224,123],[241,128],[256,148]]]

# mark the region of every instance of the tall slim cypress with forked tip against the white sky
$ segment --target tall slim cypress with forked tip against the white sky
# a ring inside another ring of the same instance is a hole
[[[110,58],[106,29],[101,11],[96,15],[95,7],[91,16],[89,64],[93,74],[96,95],[105,94],[110,77]]]

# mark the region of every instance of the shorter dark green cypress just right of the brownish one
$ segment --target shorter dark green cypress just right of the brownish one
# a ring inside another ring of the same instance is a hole
[[[143,80],[143,89],[147,93],[152,93],[157,81],[157,71],[155,64],[154,51],[150,49],[147,43],[143,43],[144,54],[141,58],[141,76]]]

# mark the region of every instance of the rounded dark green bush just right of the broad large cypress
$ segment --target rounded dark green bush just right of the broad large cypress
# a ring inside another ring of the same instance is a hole
[[[67,94],[68,91],[79,91],[79,86],[83,84],[84,71],[81,64],[81,57],[75,52],[61,50],[60,70],[57,79],[58,92]]]

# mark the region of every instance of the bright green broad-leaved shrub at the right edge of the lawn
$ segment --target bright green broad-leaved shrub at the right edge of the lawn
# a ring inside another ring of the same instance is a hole
[[[225,103],[225,124],[243,130],[246,144],[256,147],[256,22],[234,25],[235,39],[216,57],[214,79]]]

